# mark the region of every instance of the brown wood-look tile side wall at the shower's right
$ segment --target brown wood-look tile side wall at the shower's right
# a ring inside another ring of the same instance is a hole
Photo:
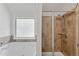
[[[65,38],[62,39],[62,52],[65,55],[75,55],[75,40],[76,40],[76,15],[75,12],[66,13],[64,15]]]

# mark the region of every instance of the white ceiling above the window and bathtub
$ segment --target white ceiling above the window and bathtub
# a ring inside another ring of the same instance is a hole
[[[5,5],[13,15],[29,14],[29,12],[34,14],[38,8],[34,3],[6,3]]]

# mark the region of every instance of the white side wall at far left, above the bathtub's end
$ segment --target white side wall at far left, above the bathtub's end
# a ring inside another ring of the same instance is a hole
[[[10,39],[10,14],[4,4],[0,3],[0,42]]]

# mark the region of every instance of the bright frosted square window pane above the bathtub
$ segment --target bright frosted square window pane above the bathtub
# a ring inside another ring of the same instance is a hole
[[[16,37],[35,37],[34,19],[16,19]]]

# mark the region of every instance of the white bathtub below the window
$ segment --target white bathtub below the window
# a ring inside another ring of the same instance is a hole
[[[35,42],[11,42],[0,46],[0,56],[36,56]]]

